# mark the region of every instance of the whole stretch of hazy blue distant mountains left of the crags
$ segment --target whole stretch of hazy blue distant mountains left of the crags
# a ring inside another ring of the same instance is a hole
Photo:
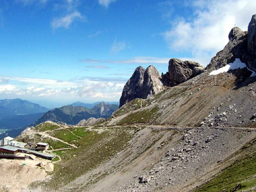
[[[47,120],[77,124],[82,119],[92,117],[108,118],[118,109],[118,105],[119,102],[75,102],[69,106],[50,110],[22,99],[2,99],[0,100],[0,139],[5,135],[16,137],[31,124],[35,125]]]

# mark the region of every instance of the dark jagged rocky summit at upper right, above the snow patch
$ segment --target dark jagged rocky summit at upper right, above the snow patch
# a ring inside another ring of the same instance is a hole
[[[207,66],[208,72],[240,59],[248,68],[256,72],[256,14],[252,16],[248,32],[234,27],[229,33],[229,43],[212,58]]]

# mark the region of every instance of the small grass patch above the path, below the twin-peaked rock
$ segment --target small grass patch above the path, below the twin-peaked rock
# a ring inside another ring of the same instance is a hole
[[[150,110],[143,110],[131,113],[130,115],[123,118],[117,124],[133,124],[133,123],[149,123],[151,120],[157,117],[158,107],[154,107]]]

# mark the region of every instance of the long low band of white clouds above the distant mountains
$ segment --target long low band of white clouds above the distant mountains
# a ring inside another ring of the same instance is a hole
[[[82,78],[74,82],[35,78],[5,77],[10,84],[0,86],[2,98],[40,98],[90,101],[118,101],[125,82],[97,78]]]

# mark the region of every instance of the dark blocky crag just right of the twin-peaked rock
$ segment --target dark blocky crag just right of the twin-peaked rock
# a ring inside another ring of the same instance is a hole
[[[170,59],[168,72],[162,74],[162,80],[166,86],[176,86],[203,72],[204,67],[197,62]]]

